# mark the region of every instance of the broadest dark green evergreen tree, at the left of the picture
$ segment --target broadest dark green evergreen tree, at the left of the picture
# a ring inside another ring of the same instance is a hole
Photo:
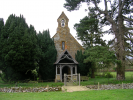
[[[37,37],[23,16],[10,15],[1,34],[1,59],[4,78],[22,80],[31,77],[37,60]]]

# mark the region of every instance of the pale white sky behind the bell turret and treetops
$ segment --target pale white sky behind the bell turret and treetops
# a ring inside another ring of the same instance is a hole
[[[75,23],[79,23],[80,19],[87,16],[87,4],[82,4],[77,11],[67,11],[63,7],[65,0],[1,0],[0,1],[0,18],[4,22],[10,14],[16,16],[23,15],[28,25],[33,25],[37,32],[50,30],[51,37],[56,34],[58,26],[57,19],[62,11],[69,19],[68,27],[70,33],[76,38],[76,30],[73,28]],[[103,39],[110,40],[112,36],[105,35]],[[79,41],[79,40],[78,40]],[[81,44],[81,41],[79,41]]]

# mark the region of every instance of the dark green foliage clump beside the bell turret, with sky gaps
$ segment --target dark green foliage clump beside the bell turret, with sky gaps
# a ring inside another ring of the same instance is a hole
[[[106,46],[105,41],[102,40],[102,32],[98,26],[99,20],[96,15],[90,14],[80,20],[79,24],[75,24],[74,28],[77,31],[77,37],[83,43],[85,48],[90,48],[95,45]]]

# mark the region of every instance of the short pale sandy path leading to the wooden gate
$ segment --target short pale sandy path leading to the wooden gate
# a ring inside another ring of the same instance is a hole
[[[89,90],[86,86],[62,86],[62,91],[73,92],[73,91],[87,91]]]

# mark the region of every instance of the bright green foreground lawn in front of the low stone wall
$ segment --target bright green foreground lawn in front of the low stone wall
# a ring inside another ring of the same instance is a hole
[[[80,92],[0,93],[0,100],[132,100],[133,89]]]

